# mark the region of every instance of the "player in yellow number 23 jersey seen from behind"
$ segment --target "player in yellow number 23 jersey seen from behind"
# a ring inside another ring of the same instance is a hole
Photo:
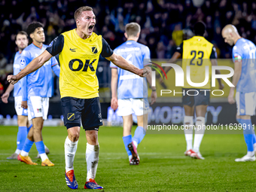
[[[175,62],[180,56],[182,56],[182,69],[184,74],[187,74],[187,66],[190,66],[190,77],[193,82],[203,82],[205,77],[206,66],[211,69],[212,66],[217,66],[217,54],[215,52],[215,47],[203,35],[206,32],[206,26],[202,22],[195,23],[193,38],[184,40],[179,47],[177,47],[174,55],[170,59],[170,62]],[[209,59],[211,62],[209,62]],[[166,73],[172,69],[171,67],[166,67]],[[216,74],[221,74],[219,70],[216,70]],[[164,75],[163,75],[164,77]],[[196,159],[204,160],[204,157],[200,154],[200,144],[203,139],[205,129],[203,126],[206,122],[206,111],[209,105],[209,89],[211,89],[211,77],[209,75],[208,83],[203,87],[192,87],[187,81],[184,81],[182,96],[182,103],[185,111],[184,116],[184,135],[187,142],[187,150],[184,152],[186,156],[190,156]],[[222,90],[223,84],[221,84],[221,79],[218,79],[219,89]],[[187,90],[197,90],[198,95],[190,91],[190,95],[187,95]],[[205,91],[200,91],[205,90]],[[194,125],[194,109],[196,110],[196,130],[194,134],[194,146],[193,143],[193,125]]]

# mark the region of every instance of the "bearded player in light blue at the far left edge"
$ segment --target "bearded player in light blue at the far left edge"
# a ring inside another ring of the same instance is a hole
[[[26,32],[18,32],[15,38],[15,44],[17,44],[18,51],[14,56],[14,75],[17,75],[20,72],[20,56],[22,51],[28,46],[29,40]],[[11,91],[14,90],[14,102],[15,110],[18,116],[18,126],[19,130],[17,133],[17,149],[10,157],[7,157],[8,160],[17,160],[20,151],[23,149],[23,145],[26,140],[26,135],[29,132],[31,126],[29,126],[28,120],[28,111],[27,109],[21,108],[21,84],[20,82],[12,85],[10,84],[2,95],[2,102],[8,103],[8,98]]]

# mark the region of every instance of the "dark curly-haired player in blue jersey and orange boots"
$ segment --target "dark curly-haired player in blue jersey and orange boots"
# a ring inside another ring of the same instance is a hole
[[[20,57],[20,69],[24,69],[32,59],[41,55],[48,47],[44,42],[43,25],[39,22],[30,23],[27,33],[32,38],[32,44],[23,50]],[[54,166],[47,157],[44,149],[44,142],[42,139],[41,130],[43,128],[44,120],[47,119],[47,112],[49,107],[49,97],[52,96],[52,69],[59,77],[59,65],[55,57],[52,57],[41,69],[32,72],[21,80],[22,87],[22,102],[23,108],[29,108],[29,120],[32,119],[32,129],[29,131],[23,150],[18,156],[18,160],[30,165],[36,165],[29,157],[29,151],[35,142],[38,153],[41,157],[41,166]]]

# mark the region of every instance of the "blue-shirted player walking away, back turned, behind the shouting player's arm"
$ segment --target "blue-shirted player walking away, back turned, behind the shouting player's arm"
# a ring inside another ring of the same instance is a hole
[[[127,41],[114,49],[114,53],[123,56],[128,62],[139,69],[144,68],[145,59],[150,59],[150,50],[147,46],[139,44],[140,26],[138,23],[128,23],[125,27]],[[130,165],[139,164],[137,147],[145,136],[148,124],[148,87],[146,78],[134,75],[120,69],[112,62],[111,67],[111,108],[117,109],[117,114],[123,117],[123,143],[128,154]],[[151,75],[147,76],[149,83]],[[151,104],[157,99],[156,88],[152,88]],[[118,100],[117,100],[118,99]],[[136,114],[138,126],[131,135],[133,126],[133,113]]]

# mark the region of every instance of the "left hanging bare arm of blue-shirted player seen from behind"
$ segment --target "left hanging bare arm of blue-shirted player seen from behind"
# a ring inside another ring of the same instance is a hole
[[[118,72],[116,68],[111,69],[111,108],[117,110],[117,81],[118,81]]]

